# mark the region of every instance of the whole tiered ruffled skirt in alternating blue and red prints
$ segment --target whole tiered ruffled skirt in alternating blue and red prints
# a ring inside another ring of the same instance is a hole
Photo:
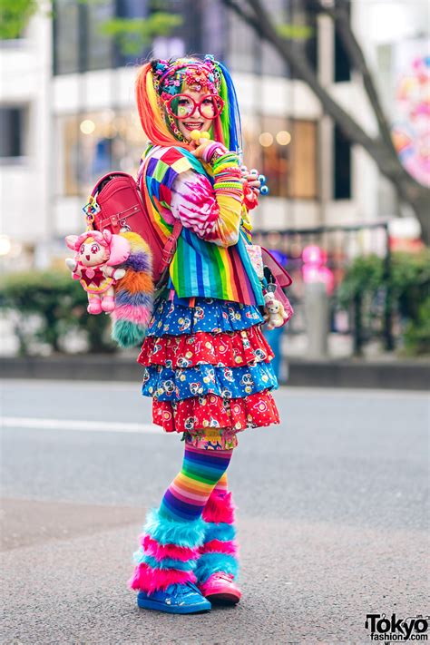
[[[237,302],[195,298],[186,307],[160,298],[138,358],[154,424],[214,449],[237,445],[245,428],[279,424],[262,322],[259,308]]]

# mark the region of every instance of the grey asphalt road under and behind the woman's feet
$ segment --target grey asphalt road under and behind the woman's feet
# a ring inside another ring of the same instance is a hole
[[[139,384],[2,384],[2,643],[371,642],[366,613],[428,614],[428,399],[281,389],[239,436],[234,609],[138,610],[146,509],[181,464]]]

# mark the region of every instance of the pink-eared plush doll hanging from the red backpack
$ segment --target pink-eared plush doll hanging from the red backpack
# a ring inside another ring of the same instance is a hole
[[[82,235],[68,235],[65,242],[74,251],[74,259],[67,258],[65,263],[88,294],[88,313],[113,311],[113,286],[125,275],[125,269],[115,267],[129,257],[129,241],[109,230],[87,230]]]

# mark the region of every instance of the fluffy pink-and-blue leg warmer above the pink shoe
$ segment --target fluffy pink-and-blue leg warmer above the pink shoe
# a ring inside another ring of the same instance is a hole
[[[220,492],[217,487],[210,495],[203,510],[205,522],[204,543],[200,547],[196,576],[199,584],[206,582],[213,573],[227,573],[236,579],[239,570],[238,544],[235,540],[234,505],[231,493]]]

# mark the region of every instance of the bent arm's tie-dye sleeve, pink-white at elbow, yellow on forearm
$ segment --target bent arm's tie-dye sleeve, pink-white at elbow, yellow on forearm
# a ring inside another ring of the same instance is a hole
[[[230,155],[230,156],[229,156]],[[228,247],[239,238],[243,190],[232,153],[214,164],[214,185],[196,171],[181,172],[171,186],[171,213],[200,238]]]

